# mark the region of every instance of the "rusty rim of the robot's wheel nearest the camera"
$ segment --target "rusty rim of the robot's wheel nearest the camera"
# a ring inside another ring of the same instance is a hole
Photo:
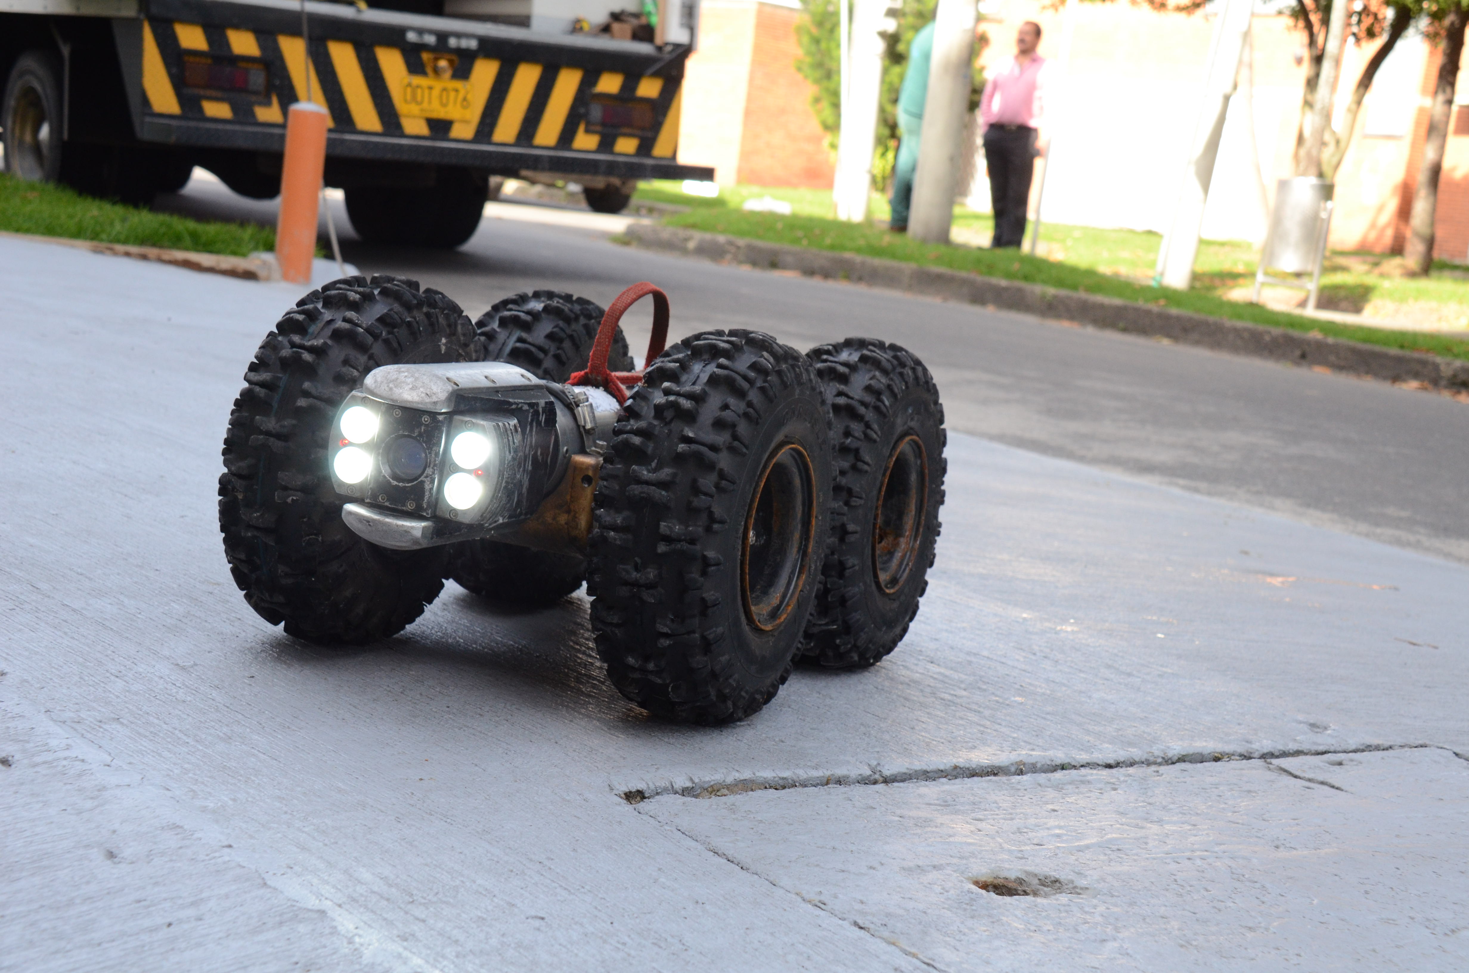
[[[811,457],[787,444],[765,463],[745,516],[740,589],[745,614],[761,631],[779,628],[801,600],[815,513]]]

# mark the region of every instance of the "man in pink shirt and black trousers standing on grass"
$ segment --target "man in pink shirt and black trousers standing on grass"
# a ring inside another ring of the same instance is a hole
[[[1036,156],[1043,153],[1040,126],[1046,107],[1046,59],[1036,53],[1040,25],[1025,21],[1015,32],[1015,57],[995,65],[980,97],[984,165],[990,172],[995,240],[990,247],[1019,247],[1025,240],[1025,207]]]

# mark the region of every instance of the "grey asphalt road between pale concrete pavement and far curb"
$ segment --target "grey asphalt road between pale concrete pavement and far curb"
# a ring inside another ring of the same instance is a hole
[[[273,203],[242,200],[204,179],[182,195],[160,197],[160,206],[275,219]],[[535,219],[530,206],[491,209],[517,219],[486,219],[458,251],[422,253],[361,244],[335,204],[347,260],[366,272],[417,278],[472,316],[532,288],[605,306],[627,284],[649,279],[670,294],[674,337],[754,328],[802,348],[846,335],[896,341],[933,369],[950,429],[1469,561],[1469,409],[1453,400],[1022,315],[630,250],[608,244],[608,222],[592,215],[577,228],[527,222]],[[648,315],[629,315],[639,322],[629,329],[635,353],[645,345]]]

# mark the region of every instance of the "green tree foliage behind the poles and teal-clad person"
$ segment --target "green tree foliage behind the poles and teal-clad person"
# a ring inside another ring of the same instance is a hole
[[[842,0],[801,0],[805,16],[796,24],[796,43],[801,57],[796,71],[815,88],[811,93],[811,110],[827,137],[827,148],[836,150],[842,131],[842,53],[839,47],[839,19]],[[908,69],[908,47],[924,24],[933,19],[939,0],[903,0],[898,15],[898,26],[883,34],[887,53],[883,59],[883,94],[877,109],[877,144],[873,148],[873,182],[886,188],[898,156],[898,90]],[[987,37],[980,35],[975,44],[975,59],[984,50]],[[984,91],[984,75],[974,72],[974,88],[970,107],[978,107]]]

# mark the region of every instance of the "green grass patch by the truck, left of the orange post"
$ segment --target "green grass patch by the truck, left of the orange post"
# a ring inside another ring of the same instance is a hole
[[[94,200],[62,185],[22,182],[0,173],[0,231],[169,247],[237,257],[275,250],[275,231],[245,223],[200,222],[170,213]]]

